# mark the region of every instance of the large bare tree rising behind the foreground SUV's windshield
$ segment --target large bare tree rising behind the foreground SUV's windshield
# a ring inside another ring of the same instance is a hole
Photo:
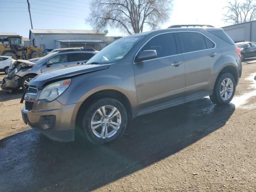
[[[166,22],[172,0],[92,0],[90,8],[87,21],[96,30],[110,26],[133,34],[142,32],[145,24],[154,30]]]

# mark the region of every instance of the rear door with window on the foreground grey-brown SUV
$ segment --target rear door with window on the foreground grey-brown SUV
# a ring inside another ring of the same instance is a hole
[[[199,32],[179,32],[178,36],[185,60],[186,95],[208,95],[212,89],[211,69],[221,57],[220,50]]]

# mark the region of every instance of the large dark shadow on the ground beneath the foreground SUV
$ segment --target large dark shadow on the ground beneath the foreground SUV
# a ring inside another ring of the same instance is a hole
[[[0,191],[91,191],[222,128],[235,110],[203,98],[140,116],[112,144],[54,142],[35,130],[2,140]],[[56,185],[57,184],[57,185]]]

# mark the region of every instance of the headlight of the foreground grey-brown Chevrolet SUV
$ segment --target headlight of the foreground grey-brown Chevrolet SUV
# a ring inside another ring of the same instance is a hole
[[[41,92],[39,99],[46,99],[52,101],[60,96],[70,85],[71,79],[54,82],[47,85]]]

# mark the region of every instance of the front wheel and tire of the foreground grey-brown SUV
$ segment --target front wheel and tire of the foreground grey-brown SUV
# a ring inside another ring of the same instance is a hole
[[[106,116],[104,116],[104,110],[102,110],[103,106]],[[102,115],[97,112],[99,110]],[[111,112],[113,112],[112,115]],[[108,117],[108,115],[112,116],[112,118]],[[80,123],[80,134],[83,138],[88,139],[93,144],[107,144],[118,140],[124,134],[128,116],[121,102],[113,98],[102,98],[92,103],[87,110],[83,112],[78,121],[81,121],[78,123]],[[92,121],[95,123],[92,124]],[[115,126],[115,129],[112,128],[113,126]],[[104,130],[107,130],[107,132]]]

